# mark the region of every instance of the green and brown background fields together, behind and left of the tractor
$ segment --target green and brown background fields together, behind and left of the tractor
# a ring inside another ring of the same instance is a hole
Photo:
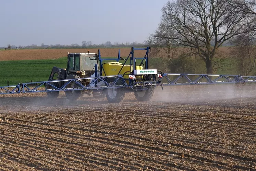
[[[127,57],[131,48],[101,48],[101,56],[117,58],[118,50],[121,57]],[[87,53],[88,49],[21,49],[0,51],[0,86],[6,86],[20,82],[48,80],[53,66],[66,68],[69,53]],[[89,49],[90,53],[98,53],[98,49]],[[136,51],[139,57],[145,55],[145,51]],[[108,61],[110,62],[110,61]],[[121,63],[124,61],[120,61]]]

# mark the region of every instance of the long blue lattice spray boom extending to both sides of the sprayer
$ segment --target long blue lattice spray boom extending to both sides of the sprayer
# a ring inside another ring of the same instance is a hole
[[[190,84],[216,84],[216,83],[243,83],[243,82],[256,82],[256,76],[241,76],[241,75],[206,75],[206,74],[171,74],[171,73],[163,73],[158,75],[161,81],[166,81],[166,83],[162,83],[163,86],[170,85],[190,85]],[[171,80],[168,76],[174,76],[173,80]],[[194,80],[190,78],[191,76],[197,76]],[[116,77],[113,81],[116,83],[119,79],[123,80],[123,85],[111,86],[106,78]],[[209,77],[216,77],[214,79],[210,79]],[[88,86],[83,86],[81,84],[81,80],[92,79]],[[187,82],[179,82],[186,80]],[[200,81],[200,79],[205,79],[205,81]],[[80,81],[78,81],[80,80]],[[67,85],[74,81],[79,87],[77,88],[67,88]],[[105,86],[95,86],[96,82],[103,81]],[[65,82],[64,85],[60,88],[53,86],[54,82]],[[37,86],[35,86],[37,84]],[[49,84],[52,89],[40,89],[44,87],[46,84]],[[152,86],[158,86],[160,81],[157,83],[151,83]],[[34,88],[31,88],[34,86]],[[143,87],[143,85],[142,85]],[[15,94],[15,93],[30,93],[30,92],[51,92],[51,91],[71,91],[71,90],[94,90],[94,89],[107,89],[107,88],[133,88],[133,86],[128,85],[122,75],[113,75],[113,76],[103,76],[103,77],[87,77],[87,78],[79,78],[79,79],[66,79],[66,80],[56,80],[56,81],[41,81],[41,82],[28,82],[28,83],[20,83],[16,86],[3,86],[0,87],[0,94]],[[145,88],[146,89],[146,88]],[[143,90],[143,89],[142,89]]]

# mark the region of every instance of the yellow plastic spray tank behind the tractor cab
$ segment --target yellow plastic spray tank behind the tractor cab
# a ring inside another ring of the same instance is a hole
[[[102,76],[110,76],[110,75],[117,75],[120,71],[120,69],[122,68],[123,64],[120,63],[120,62],[107,62],[107,63],[104,63],[102,64],[102,67],[105,71],[102,70]],[[124,65],[123,66],[123,69],[121,70],[121,72],[119,73],[120,75],[123,75],[126,71],[130,71],[130,67],[132,68],[133,70],[133,67],[130,66],[130,65]],[[136,69],[143,69],[142,66],[136,66]],[[126,75],[127,74],[127,75]],[[129,78],[128,77],[128,74],[129,73],[126,73],[124,75],[124,79],[126,78]],[[127,84],[129,84],[129,80],[126,80]]]

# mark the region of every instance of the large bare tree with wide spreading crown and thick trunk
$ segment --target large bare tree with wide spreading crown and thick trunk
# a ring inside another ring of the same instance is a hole
[[[233,8],[223,0],[176,0],[162,8],[163,28],[176,32],[176,44],[190,47],[214,72],[216,50],[230,38],[248,32],[251,15]]]

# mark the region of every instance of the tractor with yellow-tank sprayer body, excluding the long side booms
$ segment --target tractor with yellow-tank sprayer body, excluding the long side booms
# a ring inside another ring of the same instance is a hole
[[[146,55],[143,58],[135,58],[134,50],[146,50]],[[55,66],[52,68],[48,81],[53,82],[45,84],[46,90],[53,90],[54,87],[61,88],[64,86],[69,90],[64,91],[69,100],[76,100],[85,93],[87,95],[93,95],[96,98],[107,97],[110,103],[120,103],[126,92],[134,92],[137,100],[148,101],[153,95],[154,88],[159,83],[159,79],[157,81],[158,77],[156,69],[148,69],[149,53],[149,47],[145,49],[132,48],[132,51],[126,59],[120,57],[120,50],[118,58],[111,59],[101,58],[100,50],[98,50],[98,54],[89,53],[89,50],[88,53],[69,53],[66,69]],[[130,64],[126,64],[129,58]],[[136,59],[141,60],[139,65],[136,65]],[[108,60],[114,60],[116,62],[103,62]],[[119,62],[121,60],[124,61],[124,64]],[[93,79],[81,78],[95,77],[105,78],[104,80],[98,79],[97,81],[94,81],[93,87],[95,87],[95,89],[76,90],[80,87],[92,87],[91,84]],[[69,82],[70,79],[77,80]],[[55,82],[55,80],[66,81]],[[106,85],[106,83],[109,85]],[[97,89],[97,87],[102,86],[117,86],[117,88]],[[118,88],[118,86],[122,88]],[[47,95],[51,98],[57,98],[59,91],[47,91]]]

